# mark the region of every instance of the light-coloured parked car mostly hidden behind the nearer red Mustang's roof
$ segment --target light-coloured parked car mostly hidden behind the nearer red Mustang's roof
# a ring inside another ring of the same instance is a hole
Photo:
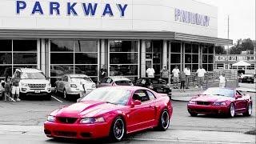
[[[98,82],[98,87],[103,86],[134,86],[133,82],[130,81],[129,78],[125,77],[106,77],[102,78],[100,82]]]

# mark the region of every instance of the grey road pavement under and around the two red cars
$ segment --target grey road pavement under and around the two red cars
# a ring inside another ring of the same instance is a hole
[[[243,134],[255,129],[256,95],[250,95],[254,101],[251,117],[190,117],[186,110],[186,102],[173,102],[174,114],[166,132],[146,130],[132,134],[125,141],[118,143],[255,143],[255,135]],[[58,107],[73,103],[57,98],[62,102],[54,98],[51,101],[0,101],[0,143],[87,143],[46,138],[42,124],[47,114]],[[93,142],[108,143],[106,139]]]

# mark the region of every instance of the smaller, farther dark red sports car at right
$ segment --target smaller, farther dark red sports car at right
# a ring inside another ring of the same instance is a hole
[[[209,88],[202,94],[191,98],[187,110],[191,116],[198,114],[235,114],[250,116],[252,114],[252,100],[250,95],[242,95],[238,90]]]

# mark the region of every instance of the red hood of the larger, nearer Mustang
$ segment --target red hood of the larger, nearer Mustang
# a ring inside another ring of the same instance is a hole
[[[118,110],[122,107],[123,106],[106,102],[83,101],[74,103],[70,106],[65,106],[59,110],[55,110],[51,115],[57,117],[93,118],[97,115],[105,114],[113,110]]]

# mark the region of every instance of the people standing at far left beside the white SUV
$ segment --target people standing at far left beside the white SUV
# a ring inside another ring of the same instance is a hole
[[[16,73],[20,74],[20,73]],[[12,102],[19,102],[21,99],[19,98],[19,81],[20,81],[20,75],[14,76],[14,78],[10,78],[9,76],[6,76],[6,79],[4,82],[1,82],[2,87],[4,88],[3,94],[4,94],[4,101],[7,100]],[[16,96],[16,100],[14,100],[14,97]]]

